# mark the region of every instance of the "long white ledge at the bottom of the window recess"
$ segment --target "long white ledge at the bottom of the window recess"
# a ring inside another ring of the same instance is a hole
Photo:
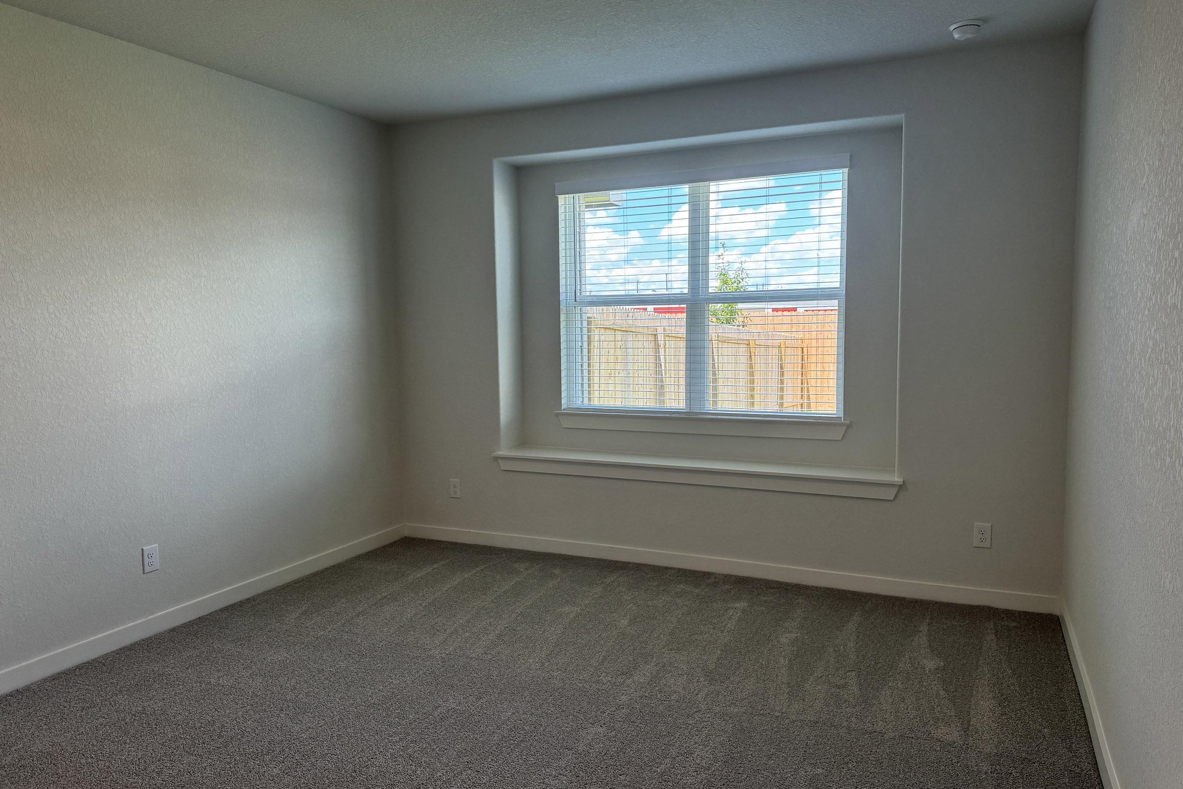
[[[639,479],[683,485],[893,499],[904,484],[891,468],[807,466],[765,460],[519,446],[494,452],[503,471]]]

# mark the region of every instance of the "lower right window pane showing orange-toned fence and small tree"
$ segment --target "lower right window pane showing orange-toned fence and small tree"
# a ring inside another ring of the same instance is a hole
[[[839,413],[838,302],[710,305],[710,408]]]

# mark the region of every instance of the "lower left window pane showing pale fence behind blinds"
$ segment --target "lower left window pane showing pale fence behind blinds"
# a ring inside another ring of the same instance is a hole
[[[582,328],[563,332],[568,405],[685,408],[685,306],[568,308],[564,321]]]

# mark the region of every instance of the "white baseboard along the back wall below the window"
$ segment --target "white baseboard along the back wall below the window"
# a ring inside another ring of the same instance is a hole
[[[788,564],[769,564],[765,562],[749,562],[746,560],[722,558],[718,556],[678,554],[649,548],[631,548],[627,545],[606,545],[574,539],[557,539],[555,537],[474,531],[452,526],[426,526],[408,523],[406,524],[406,530],[407,537],[477,543],[480,545],[517,548],[548,554],[567,554],[570,556],[636,562],[640,564],[658,564],[660,567],[678,567],[686,570],[705,570],[707,573],[725,573],[729,575],[768,578],[770,581],[803,583],[810,587],[870,591],[872,594],[891,595],[894,597],[938,600],[940,602],[967,603],[970,606],[993,606],[995,608],[1036,612],[1041,614],[1060,613],[1060,599],[1055,595],[1037,595],[1027,591],[1008,591],[1006,589],[981,589],[946,583],[929,583],[926,581],[904,581],[900,578],[885,578],[855,573],[815,570]]]

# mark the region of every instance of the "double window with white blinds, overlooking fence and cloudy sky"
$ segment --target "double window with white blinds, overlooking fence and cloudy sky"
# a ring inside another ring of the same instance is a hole
[[[563,408],[841,418],[847,168],[557,185]]]

